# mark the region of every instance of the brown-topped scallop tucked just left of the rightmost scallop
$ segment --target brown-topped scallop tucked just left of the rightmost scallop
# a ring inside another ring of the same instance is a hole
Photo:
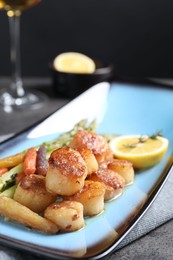
[[[100,168],[89,176],[92,181],[101,182],[105,187],[104,200],[117,198],[122,194],[125,180],[121,175],[108,168]]]

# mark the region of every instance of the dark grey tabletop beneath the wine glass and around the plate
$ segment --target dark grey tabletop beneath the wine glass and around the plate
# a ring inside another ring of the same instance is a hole
[[[37,122],[41,118],[49,115],[59,107],[66,104],[69,100],[55,96],[51,80],[43,79],[25,79],[26,87],[38,89],[48,96],[44,106],[36,110],[16,111],[14,114],[5,113],[0,109],[0,135],[19,132],[26,127]],[[8,80],[0,79],[0,88],[6,86]],[[106,256],[104,259],[119,260],[172,260],[173,259],[173,220],[169,220],[161,226],[150,231],[141,238],[120,248],[116,252]],[[13,248],[0,245],[0,260],[39,260],[43,257],[32,255]],[[48,258],[47,258],[48,259]]]

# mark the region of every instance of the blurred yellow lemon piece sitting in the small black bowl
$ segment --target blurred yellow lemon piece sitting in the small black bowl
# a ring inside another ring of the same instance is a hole
[[[65,52],[54,59],[57,71],[69,73],[93,73],[95,63],[88,56],[78,52]]]

